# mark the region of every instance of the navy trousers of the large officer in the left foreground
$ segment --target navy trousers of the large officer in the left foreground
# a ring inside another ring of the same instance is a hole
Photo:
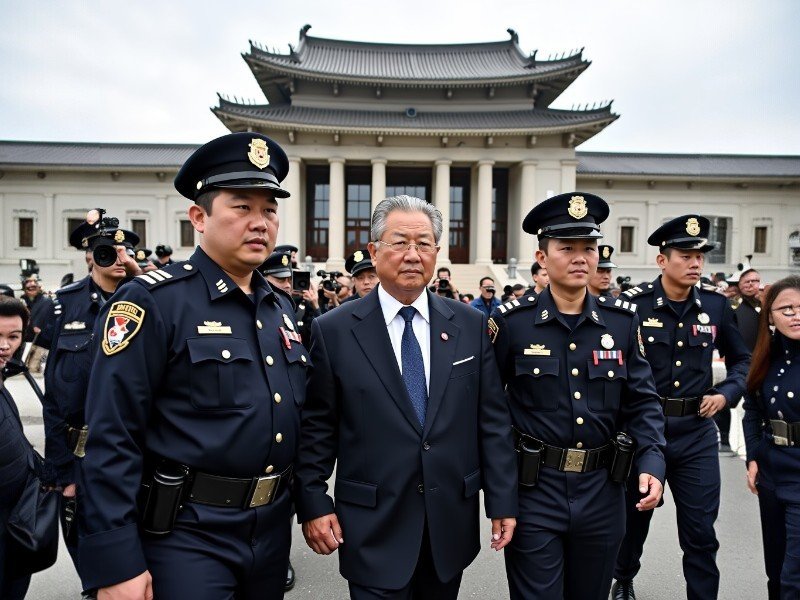
[[[156,598],[277,600],[289,566],[289,494],[255,509],[187,503],[175,529],[142,537]]]

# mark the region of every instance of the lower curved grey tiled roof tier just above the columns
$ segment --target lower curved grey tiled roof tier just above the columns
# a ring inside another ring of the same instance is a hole
[[[594,133],[617,119],[611,106],[587,111],[528,109],[474,112],[343,110],[290,104],[237,104],[220,98],[212,109],[229,128],[236,123],[263,129],[399,135],[557,134],[594,127]]]

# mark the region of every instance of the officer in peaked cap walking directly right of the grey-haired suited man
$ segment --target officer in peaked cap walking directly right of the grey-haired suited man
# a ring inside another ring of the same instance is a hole
[[[573,193],[528,213],[522,228],[539,237],[550,284],[501,304],[489,321],[520,459],[506,548],[513,599],[605,599],[631,463],[638,509],[661,498],[663,417],[635,307],[586,290],[608,212],[601,198]]]

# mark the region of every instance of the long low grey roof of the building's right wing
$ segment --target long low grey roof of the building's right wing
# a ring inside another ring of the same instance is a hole
[[[578,175],[800,178],[800,156],[578,152]]]

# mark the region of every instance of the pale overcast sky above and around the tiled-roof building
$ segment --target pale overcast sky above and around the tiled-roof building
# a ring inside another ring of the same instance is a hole
[[[584,47],[592,65],[553,104],[614,99],[580,146],[800,154],[797,0],[0,0],[0,139],[202,143],[227,130],[216,93],[265,102],[248,40],[299,29],[362,41],[507,39]]]

